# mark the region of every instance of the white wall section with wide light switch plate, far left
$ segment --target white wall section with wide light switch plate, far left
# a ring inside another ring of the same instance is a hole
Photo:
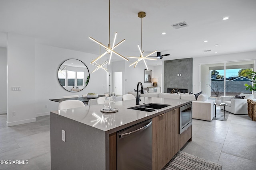
[[[12,86],[20,86],[21,91],[12,91]],[[11,126],[32,121],[36,121],[35,39],[8,33],[6,124]]]

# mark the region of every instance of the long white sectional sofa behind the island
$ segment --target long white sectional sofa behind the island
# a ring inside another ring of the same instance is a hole
[[[128,92],[136,97],[136,92]],[[140,94],[140,93],[139,93]],[[215,116],[214,103],[215,100],[208,100],[207,94],[200,94],[196,100],[194,94],[170,94],[170,93],[144,93],[140,94],[141,97],[159,97],[192,100],[192,118],[206,121],[212,121]]]

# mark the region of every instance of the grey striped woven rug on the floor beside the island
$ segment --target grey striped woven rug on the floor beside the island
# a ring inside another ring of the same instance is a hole
[[[179,151],[162,170],[221,170],[222,165]]]

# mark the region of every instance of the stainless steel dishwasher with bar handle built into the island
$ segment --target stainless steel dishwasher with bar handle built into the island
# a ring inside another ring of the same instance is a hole
[[[117,170],[152,169],[152,119],[117,132]]]

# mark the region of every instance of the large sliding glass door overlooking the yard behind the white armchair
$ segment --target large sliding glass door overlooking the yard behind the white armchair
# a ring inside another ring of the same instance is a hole
[[[235,96],[240,93],[252,94],[245,90],[244,84],[252,84],[246,71],[254,69],[254,60],[234,61],[213,64],[201,64],[201,91],[212,98],[220,96]]]

